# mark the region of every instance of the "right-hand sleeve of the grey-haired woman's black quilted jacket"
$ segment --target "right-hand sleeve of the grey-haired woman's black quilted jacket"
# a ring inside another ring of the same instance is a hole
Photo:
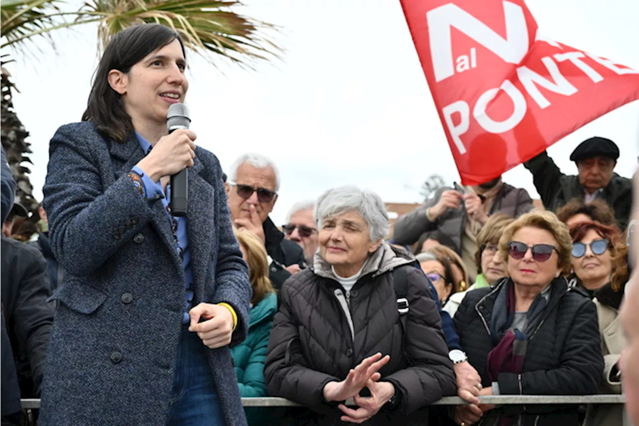
[[[408,321],[404,352],[413,367],[404,368],[381,381],[395,386],[400,414],[410,414],[445,396],[456,395],[455,373],[448,358],[442,322],[428,283],[421,271],[408,272]]]

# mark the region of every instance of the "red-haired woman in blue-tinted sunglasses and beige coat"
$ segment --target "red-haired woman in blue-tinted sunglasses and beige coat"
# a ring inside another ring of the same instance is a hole
[[[601,349],[604,354],[601,393],[621,393],[619,359],[626,336],[619,307],[629,278],[628,249],[616,226],[583,222],[570,229],[573,237],[573,269],[578,287],[586,290],[597,306]],[[623,407],[590,405],[584,426],[620,425]]]

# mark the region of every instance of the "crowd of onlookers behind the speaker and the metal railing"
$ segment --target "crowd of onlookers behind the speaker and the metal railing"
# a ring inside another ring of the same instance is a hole
[[[463,193],[440,189],[400,217],[391,238],[381,198],[355,187],[299,201],[276,226],[269,214],[281,184],[277,166],[240,156],[223,177],[252,288],[248,333],[232,350],[240,395],[308,407],[247,407],[249,424],[381,425],[399,417],[422,425],[429,416],[468,426],[621,424],[621,406],[584,412],[476,398],[621,393],[631,184],[613,174],[612,141],[589,139],[575,152],[577,177],[555,177],[566,184],[554,191],[537,186],[554,212],[534,209],[524,189],[497,178]],[[548,184],[546,170],[558,173],[546,154],[527,167],[536,185]],[[569,182],[581,185],[572,198]],[[8,334],[0,337],[10,342],[1,346],[10,349],[4,365],[15,365],[3,368],[11,376],[3,383],[19,385],[3,400],[19,413],[20,396],[40,396],[56,310],[56,298],[47,298],[73,274],[56,262],[45,210],[38,232],[27,235],[13,228],[26,209],[3,201],[10,209],[0,239],[0,330]],[[470,404],[425,409],[450,395]],[[344,405],[349,398],[355,409]]]

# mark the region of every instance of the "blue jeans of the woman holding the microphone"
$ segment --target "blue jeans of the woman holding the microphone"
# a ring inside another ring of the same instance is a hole
[[[167,426],[223,426],[213,372],[197,333],[182,327]]]

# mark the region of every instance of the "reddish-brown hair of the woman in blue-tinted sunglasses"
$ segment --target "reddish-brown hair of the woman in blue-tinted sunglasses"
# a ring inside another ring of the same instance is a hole
[[[619,228],[616,226],[606,226],[599,222],[581,222],[570,228],[570,236],[573,242],[578,242],[585,237],[589,230],[595,230],[601,238],[608,240],[610,248],[610,262],[612,264],[612,277],[610,285],[615,292],[620,291],[626,285],[630,274],[628,272],[628,247],[624,242]]]

